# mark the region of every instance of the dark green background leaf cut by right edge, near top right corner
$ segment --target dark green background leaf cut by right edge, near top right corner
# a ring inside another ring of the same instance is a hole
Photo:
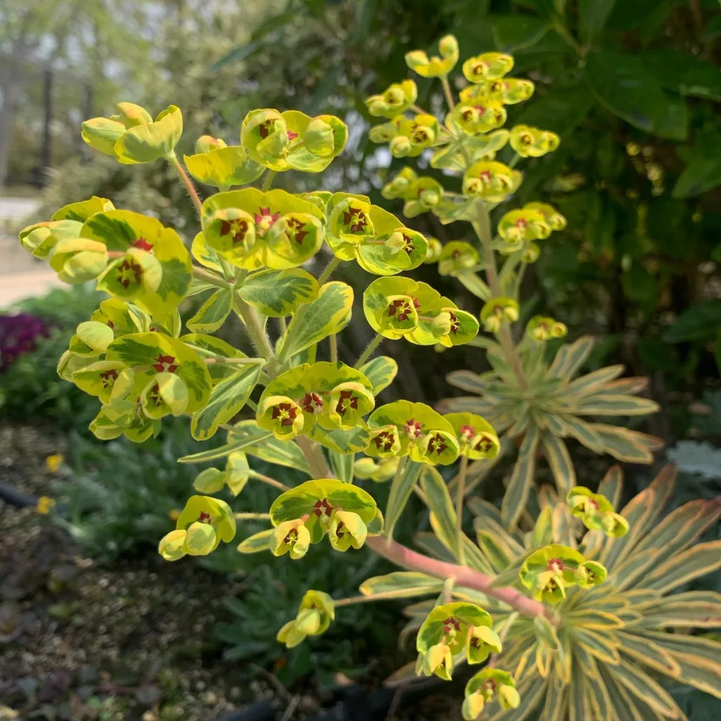
[[[721,100],[721,72],[711,63],[672,48],[643,50],[639,57],[661,87],[681,95]]]

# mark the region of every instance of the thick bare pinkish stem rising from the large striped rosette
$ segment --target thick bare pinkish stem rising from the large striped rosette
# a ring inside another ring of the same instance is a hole
[[[410,548],[406,548],[397,543],[397,541],[381,536],[370,536],[366,540],[366,544],[377,554],[402,568],[410,571],[420,571],[421,573],[426,573],[435,578],[442,578],[443,580],[446,580],[446,578],[454,578],[456,585],[482,591],[487,596],[497,598],[498,601],[503,601],[503,603],[508,604],[508,606],[516,609],[519,614],[523,614],[524,616],[548,615],[548,611],[543,603],[534,601],[533,598],[523,596],[523,593],[521,593],[520,590],[516,590],[516,588],[492,588],[492,578],[485,575],[485,573],[474,571],[467,566],[438,561],[435,558],[416,553]]]

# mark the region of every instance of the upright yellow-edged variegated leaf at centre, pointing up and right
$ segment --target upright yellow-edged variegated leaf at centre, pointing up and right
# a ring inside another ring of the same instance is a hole
[[[339,281],[325,283],[318,297],[307,306],[301,306],[288,325],[278,361],[284,363],[309,345],[345,328],[352,308],[353,288]]]

